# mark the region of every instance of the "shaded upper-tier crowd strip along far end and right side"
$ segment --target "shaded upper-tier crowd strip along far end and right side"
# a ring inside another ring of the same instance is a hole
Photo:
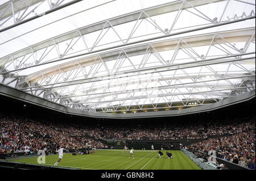
[[[112,140],[180,140],[205,139],[211,136],[225,136],[252,129],[255,118],[244,117],[230,123],[228,120],[189,124],[137,125],[137,127],[94,128],[90,136]]]

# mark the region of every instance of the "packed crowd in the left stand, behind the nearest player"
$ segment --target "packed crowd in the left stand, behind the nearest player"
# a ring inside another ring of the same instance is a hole
[[[84,148],[86,142],[103,148],[101,141],[85,134],[83,129],[72,124],[54,124],[49,122],[0,117],[0,153],[30,152],[32,150],[56,150],[65,148]]]

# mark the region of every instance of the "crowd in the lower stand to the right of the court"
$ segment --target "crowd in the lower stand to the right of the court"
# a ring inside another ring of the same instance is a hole
[[[188,146],[188,149],[208,155],[216,151],[216,157],[255,170],[255,124],[245,124],[250,131],[240,131],[231,136],[209,138]]]

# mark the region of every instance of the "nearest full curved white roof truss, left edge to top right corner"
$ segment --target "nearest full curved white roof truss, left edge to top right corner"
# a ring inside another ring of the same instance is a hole
[[[94,50],[101,50],[105,47],[111,47],[111,45],[126,45],[138,40],[147,40],[145,37],[158,37],[160,35],[171,35],[174,32],[180,32],[181,30],[197,30],[198,27],[206,28],[211,24],[221,24],[221,23],[232,23],[236,20],[243,20],[249,18],[255,18],[254,6],[251,5],[251,13],[245,14],[245,12],[241,12],[241,15],[232,17],[232,14],[228,16],[228,20],[223,16],[230,5],[230,1],[217,1],[217,0],[194,0],[194,1],[175,1],[171,3],[166,3],[164,5],[159,5],[156,7],[151,7],[148,9],[144,9],[141,11],[135,11],[130,14],[121,15],[112,19],[105,20],[103,22],[98,22],[91,24],[89,26],[85,26],[79,28],[78,30],[64,33],[63,35],[59,35],[53,37],[52,39],[48,39],[41,43],[31,45],[30,47],[19,50],[18,52],[14,52],[9,54],[8,56],[0,58],[0,65],[4,67],[8,73],[10,71],[18,71],[26,68],[30,68],[32,66],[43,65],[46,62],[56,61],[56,60],[64,60],[64,58],[68,58],[71,56],[75,56],[81,53],[90,53],[94,52]],[[223,11],[219,14],[219,17],[209,18],[204,12],[201,12],[198,7],[207,5],[208,3],[222,3],[220,6],[224,6]],[[246,3],[242,2],[240,3]],[[250,3],[249,3],[250,4]],[[179,16],[183,13],[187,12],[193,16],[199,17],[203,19],[204,22],[196,24],[193,27],[183,27],[180,29],[175,29],[175,24],[181,21]],[[168,28],[160,27],[157,22],[153,20],[155,17],[161,17],[161,15],[173,13],[175,19],[168,24]],[[148,26],[152,28],[151,33],[142,32],[142,35],[134,36],[134,34],[138,31],[138,29],[142,26],[142,22],[146,22]],[[131,24],[133,23],[133,24]],[[120,35],[117,29],[121,26],[133,26],[130,32],[127,32],[127,35]],[[112,31],[113,38],[109,40],[107,43],[100,44],[101,40],[105,37],[108,37],[108,32]],[[115,38],[115,37],[116,38]],[[94,37],[94,40],[88,40],[88,37]],[[60,47],[65,47],[60,49]],[[3,69],[0,70],[0,73],[4,73]]]

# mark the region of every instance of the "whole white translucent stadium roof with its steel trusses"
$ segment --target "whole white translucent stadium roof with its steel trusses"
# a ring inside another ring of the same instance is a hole
[[[254,91],[255,1],[0,1],[0,82],[86,112]]]

